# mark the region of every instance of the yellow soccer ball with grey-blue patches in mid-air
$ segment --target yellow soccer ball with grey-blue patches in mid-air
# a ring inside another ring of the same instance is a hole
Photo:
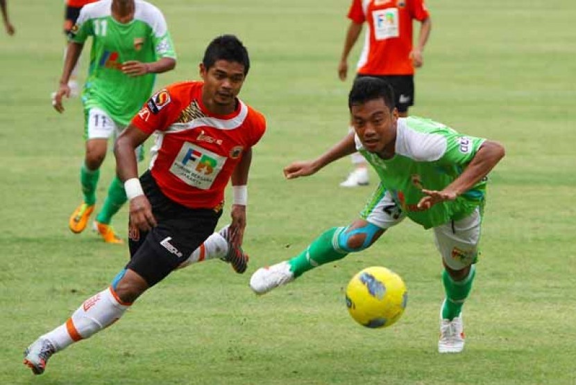
[[[346,287],[348,312],[366,328],[387,328],[402,316],[408,293],[402,278],[386,267],[366,267]]]

